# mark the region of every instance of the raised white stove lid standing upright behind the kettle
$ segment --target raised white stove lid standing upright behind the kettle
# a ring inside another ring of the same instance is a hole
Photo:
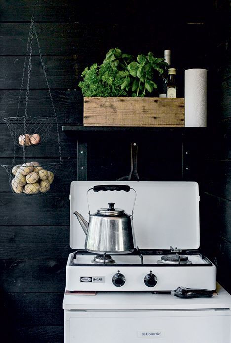
[[[199,187],[196,182],[73,181],[70,195],[70,247],[84,249],[85,234],[73,214],[88,221],[86,192],[96,185],[127,184],[137,192],[134,209],[136,245],[140,249],[198,249],[200,246]],[[109,202],[131,214],[134,192],[90,191],[91,213]]]

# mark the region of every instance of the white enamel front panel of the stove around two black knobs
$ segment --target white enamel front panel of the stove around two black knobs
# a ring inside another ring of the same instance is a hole
[[[193,257],[195,260],[199,257]],[[71,254],[66,267],[66,289],[69,291],[168,291],[178,286],[189,288],[216,288],[216,267],[212,266],[70,266]],[[126,282],[121,287],[112,283],[117,272],[123,274]],[[152,271],[157,284],[150,288],[144,277]],[[81,282],[82,277],[104,277],[104,283]]]

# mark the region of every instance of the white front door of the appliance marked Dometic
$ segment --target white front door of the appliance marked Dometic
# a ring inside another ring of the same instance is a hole
[[[64,343],[230,343],[230,322],[222,310],[65,311]]]

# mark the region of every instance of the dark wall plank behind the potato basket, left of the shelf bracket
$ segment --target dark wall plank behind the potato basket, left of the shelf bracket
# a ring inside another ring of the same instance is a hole
[[[52,163],[50,159],[36,159],[42,166],[44,163]],[[31,161],[29,161],[31,162]],[[56,161],[58,162],[58,161]],[[21,163],[19,159],[16,164]],[[9,178],[6,170],[1,165],[12,165],[12,158],[0,159],[0,192],[11,192],[9,185]],[[50,186],[49,193],[54,192],[70,192],[70,184],[73,180],[77,179],[77,159],[65,159],[61,166],[54,172],[54,181]]]

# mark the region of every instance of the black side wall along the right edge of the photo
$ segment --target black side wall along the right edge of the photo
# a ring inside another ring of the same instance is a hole
[[[228,5],[228,3],[227,3]],[[225,6],[227,13],[229,6]],[[217,265],[219,282],[231,293],[231,41],[229,27],[214,50],[214,79],[211,87],[211,137],[204,193],[204,246]],[[214,108],[212,110],[212,105]],[[209,238],[208,238],[209,237]]]

